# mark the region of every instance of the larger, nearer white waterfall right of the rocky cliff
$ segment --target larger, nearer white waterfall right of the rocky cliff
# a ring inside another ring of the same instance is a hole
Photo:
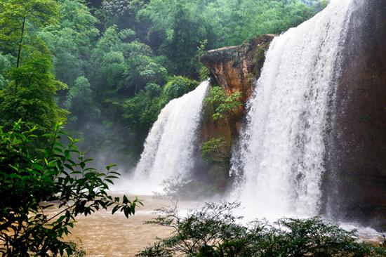
[[[321,202],[324,136],[352,0],[276,37],[267,51],[233,170],[246,216],[314,216]]]

